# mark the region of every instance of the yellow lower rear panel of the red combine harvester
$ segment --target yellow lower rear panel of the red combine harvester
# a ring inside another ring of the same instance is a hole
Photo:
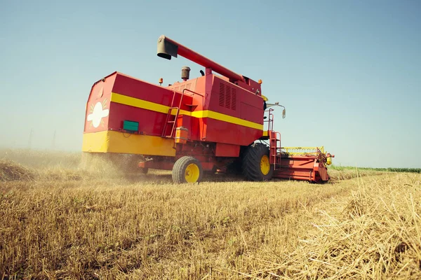
[[[103,131],[83,134],[82,151],[175,156],[174,140],[156,136]]]

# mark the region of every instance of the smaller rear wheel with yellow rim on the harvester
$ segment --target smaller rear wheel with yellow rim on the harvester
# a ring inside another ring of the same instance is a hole
[[[198,172],[196,176],[190,176],[190,173],[186,169],[194,169],[194,172]],[[203,177],[203,169],[199,160],[196,158],[184,156],[179,158],[173,167],[173,181],[174,183],[199,183]]]

